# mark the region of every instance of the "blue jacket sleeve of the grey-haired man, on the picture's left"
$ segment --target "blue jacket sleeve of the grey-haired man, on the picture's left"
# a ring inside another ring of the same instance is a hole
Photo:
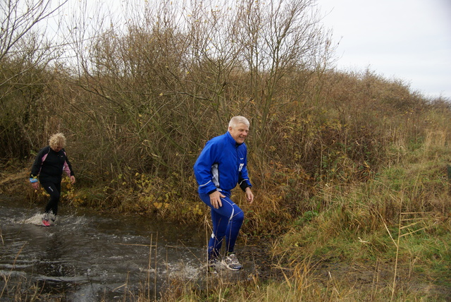
[[[199,193],[208,194],[216,191],[211,166],[216,162],[217,149],[217,144],[207,142],[194,164],[194,176],[199,185]]]

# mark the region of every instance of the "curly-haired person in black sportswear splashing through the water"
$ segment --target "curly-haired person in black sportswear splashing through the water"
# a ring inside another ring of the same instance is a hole
[[[63,171],[70,176],[70,182],[75,183],[72,165],[64,150],[66,138],[63,133],[51,135],[49,145],[39,150],[35,162],[31,167],[30,183],[37,190],[39,183],[50,195],[49,203],[45,207],[42,224],[49,226],[55,221],[58,212],[58,202],[61,195],[61,180]],[[39,179],[39,183],[38,183]]]

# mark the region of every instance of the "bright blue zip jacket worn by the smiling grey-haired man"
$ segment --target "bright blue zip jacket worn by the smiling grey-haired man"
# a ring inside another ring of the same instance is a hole
[[[199,193],[221,191],[230,195],[237,183],[242,191],[252,187],[247,176],[247,147],[237,144],[229,132],[206,142],[194,164]]]

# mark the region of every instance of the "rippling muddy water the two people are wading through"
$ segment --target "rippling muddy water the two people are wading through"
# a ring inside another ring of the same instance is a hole
[[[65,205],[42,227],[42,207],[0,195],[0,301],[34,284],[61,301],[153,299],[173,279],[206,275],[203,229]]]

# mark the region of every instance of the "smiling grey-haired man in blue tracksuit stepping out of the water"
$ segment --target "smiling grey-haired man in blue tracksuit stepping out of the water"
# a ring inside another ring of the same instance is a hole
[[[194,164],[199,197],[211,207],[213,234],[208,248],[210,267],[217,262],[224,238],[227,256],[222,260],[223,265],[229,270],[240,270],[242,267],[234,248],[244,213],[230,200],[230,191],[239,184],[249,203],[254,200],[246,168],[245,139],[248,133],[249,121],[243,116],[233,117],[228,131],[209,140]]]

